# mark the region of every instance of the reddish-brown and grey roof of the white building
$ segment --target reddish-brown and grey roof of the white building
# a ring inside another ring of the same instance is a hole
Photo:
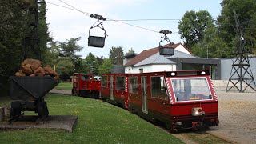
[[[173,46],[174,48],[178,47],[179,45],[182,45],[182,43],[169,43],[166,44],[165,46]],[[183,45],[182,45],[183,46]],[[183,46],[188,52],[190,52],[190,50],[188,50],[186,48],[186,46]],[[178,54],[176,54],[178,53]],[[189,57],[189,55],[191,54],[185,54],[182,52],[179,52],[178,50],[175,50],[174,52],[174,56],[172,56],[171,58],[176,58],[175,55],[177,55],[177,57],[179,58],[187,58]],[[151,57],[152,56],[152,57]],[[192,56],[192,55],[190,55]],[[195,58],[194,56],[192,56],[193,58]],[[140,54],[138,54],[136,57],[132,58],[130,60],[130,62],[127,62],[124,66],[140,66],[140,65],[146,65],[146,64],[150,64],[150,62],[154,62],[154,63],[170,63],[170,60],[167,59],[170,57],[165,57],[162,55],[159,55],[159,47],[155,47],[149,50],[143,50]],[[144,62],[144,60],[146,60]]]

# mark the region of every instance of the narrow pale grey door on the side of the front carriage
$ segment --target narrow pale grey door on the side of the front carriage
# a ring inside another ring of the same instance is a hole
[[[142,112],[148,113],[148,106],[147,106],[147,84],[146,84],[146,76],[142,76],[141,78],[142,83]]]

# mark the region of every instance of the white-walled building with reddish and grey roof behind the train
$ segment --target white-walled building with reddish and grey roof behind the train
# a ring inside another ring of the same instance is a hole
[[[182,43],[171,43],[166,46],[174,47],[174,55],[159,54],[159,47],[143,50],[140,54],[124,60],[125,73],[147,73],[174,70],[210,70],[214,79],[220,78],[220,60],[198,58]]]

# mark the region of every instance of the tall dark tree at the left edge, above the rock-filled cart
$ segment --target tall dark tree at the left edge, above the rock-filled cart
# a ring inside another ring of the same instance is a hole
[[[18,0],[0,1],[0,76],[14,74],[20,65],[22,39],[28,29],[25,5]]]

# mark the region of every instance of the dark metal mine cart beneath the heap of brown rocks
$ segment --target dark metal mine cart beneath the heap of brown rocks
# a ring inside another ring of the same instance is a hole
[[[38,113],[38,120],[49,115],[45,95],[58,85],[52,77],[10,77],[10,122],[18,120],[23,111]]]

